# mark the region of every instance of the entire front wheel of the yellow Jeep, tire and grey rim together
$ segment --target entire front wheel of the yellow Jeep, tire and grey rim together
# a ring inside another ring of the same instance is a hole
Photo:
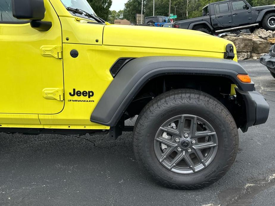
[[[208,186],[233,164],[238,129],[214,97],[196,90],[173,90],[144,107],[133,131],[139,164],[164,186]]]

